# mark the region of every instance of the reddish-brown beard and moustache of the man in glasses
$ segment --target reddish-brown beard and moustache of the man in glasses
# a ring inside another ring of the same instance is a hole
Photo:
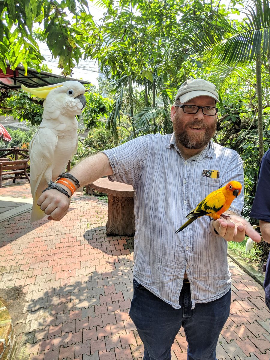
[[[194,120],[190,123],[183,125],[180,116],[175,117],[174,132],[176,139],[186,149],[201,149],[208,144],[212,136],[216,131],[216,121],[208,125],[204,121]],[[192,135],[188,131],[189,127],[204,128],[204,132],[193,133]]]

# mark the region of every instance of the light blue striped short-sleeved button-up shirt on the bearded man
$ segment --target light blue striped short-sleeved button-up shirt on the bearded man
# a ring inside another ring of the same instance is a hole
[[[185,160],[174,134],[145,135],[105,150],[109,180],[134,188],[134,278],[179,309],[184,273],[195,303],[216,300],[230,289],[227,242],[210,229],[210,217],[175,231],[210,192],[231,180],[243,185],[243,163],[234,150],[210,143]],[[216,170],[216,171],[213,171]],[[208,177],[211,176],[212,177]],[[243,194],[230,210],[240,214]]]

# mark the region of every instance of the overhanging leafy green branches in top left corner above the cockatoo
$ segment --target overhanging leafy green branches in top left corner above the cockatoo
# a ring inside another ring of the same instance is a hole
[[[12,69],[22,63],[26,73],[30,65],[40,69],[44,58],[34,30],[37,24],[41,24],[44,30],[39,32],[39,40],[46,41],[52,55],[59,57],[63,73],[70,74],[82,56],[81,48],[84,48],[77,23],[86,14],[86,8],[86,0],[0,1],[0,68],[5,72],[8,61]],[[91,17],[89,24],[90,20]]]

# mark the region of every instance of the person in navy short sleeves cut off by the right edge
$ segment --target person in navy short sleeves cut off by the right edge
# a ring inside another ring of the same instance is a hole
[[[270,149],[260,163],[257,190],[249,216],[260,220],[262,238],[270,243]],[[270,310],[270,253],[265,270],[264,290],[265,302]]]

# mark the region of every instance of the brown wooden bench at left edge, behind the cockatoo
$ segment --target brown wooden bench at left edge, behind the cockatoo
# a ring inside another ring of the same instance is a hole
[[[26,172],[28,161],[28,159],[0,161],[0,188],[2,188],[2,181],[6,179],[13,179],[13,183],[16,179],[27,179],[30,183],[30,177]],[[15,176],[6,177],[12,174]]]

